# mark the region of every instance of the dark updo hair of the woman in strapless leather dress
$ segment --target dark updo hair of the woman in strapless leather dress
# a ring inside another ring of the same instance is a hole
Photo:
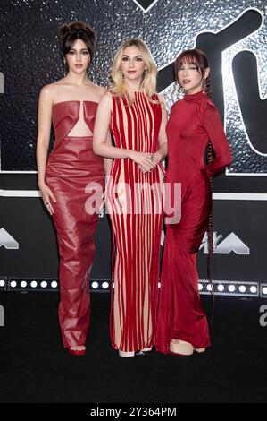
[[[63,56],[65,57],[69,53],[76,39],[81,39],[85,43],[92,59],[96,43],[96,32],[87,23],[82,21],[64,23],[60,27],[59,41]]]

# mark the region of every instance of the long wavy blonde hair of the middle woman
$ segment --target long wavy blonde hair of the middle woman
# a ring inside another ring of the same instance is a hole
[[[131,99],[129,90],[127,89],[127,86],[124,83],[123,74],[121,72],[121,61],[123,51],[125,50],[125,48],[132,46],[138,47],[138,49],[141,52],[144,63],[146,64],[146,71],[143,73],[141,79],[141,89],[144,91],[147,99],[152,99],[156,86],[157,68],[154,64],[153,56],[151,55],[148,47],[146,46],[146,43],[139,38],[126,39],[121,44],[121,47],[119,47],[117,53],[115,54],[111,73],[113,79],[113,87],[111,91],[114,95],[118,97],[127,97]]]

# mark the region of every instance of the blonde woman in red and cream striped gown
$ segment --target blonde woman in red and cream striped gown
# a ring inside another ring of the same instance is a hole
[[[114,57],[113,89],[96,114],[94,151],[113,159],[106,193],[113,228],[111,338],[121,357],[154,345],[167,153],[156,73],[146,44],[126,40]],[[108,128],[114,146],[105,143]]]

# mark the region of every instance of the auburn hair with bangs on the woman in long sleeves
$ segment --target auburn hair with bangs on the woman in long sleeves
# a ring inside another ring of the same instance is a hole
[[[179,68],[183,64],[195,64],[197,72],[202,75],[204,78],[204,71],[207,67],[209,67],[209,62],[207,56],[204,52],[198,48],[195,49],[188,49],[183,51],[179,54],[177,59],[175,60],[175,77],[178,80],[178,71]],[[212,84],[211,84],[211,73],[209,73],[208,77],[204,80],[204,91],[208,95],[208,97],[212,96]]]

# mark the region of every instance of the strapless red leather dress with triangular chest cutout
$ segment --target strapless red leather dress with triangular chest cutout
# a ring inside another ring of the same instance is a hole
[[[56,202],[54,226],[59,245],[59,322],[63,346],[84,345],[89,327],[88,277],[93,264],[98,215],[86,203],[104,188],[104,159],[92,150],[92,135],[68,136],[79,120],[80,101],[53,107],[54,149],[46,165],[46,184]],[[93,133],[97,103],[83,101],[84,122]],[[91,184],[91,185],[90,185]],[[96,188],[90,188],[93,185]],[[86,189],[87,188],[87,189]]]

